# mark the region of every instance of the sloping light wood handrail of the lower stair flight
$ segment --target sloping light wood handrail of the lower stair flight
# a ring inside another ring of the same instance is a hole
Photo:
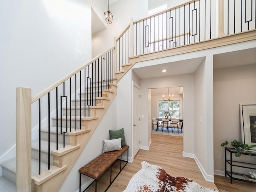
[[[94,57],[92,60],[90,60],[89,62],[87,62],[86,64],[84,64],[83,66],[81,66],[80,68],[78,68],[77,70],[75,70],[74,72],[72,72],[71,74],[67,75],[66,77],[62,78],[61,80],[59,80],[58,82],[52,84],[51,86],[49,86],[48,88],[46,88],[45,90],[43,90],[42,92],[38,93],[36,96],[34,96],[32,98],[31,103],[36,102],[38,99],[40,99],[42,96],[46,95],[48,92],[50,92],[51,90],[53,90],[54,88],[56,88],[57,86],[59,86],[60,84],[62,84],[63,82],[65,82],[66,80],[68,80],[70,77],[74,76],[75,74],[77,74],[78,72],[80,72],[82,69],[84,69],[86,66],[90,65],[92,62],[94,62],[95,60],[97,60],[98,58],[100,58],[101,56],[103,56],[104,54],[106,54],[107,52],[109,52],[110,50],[114,49],[115,46],[112,46],[110,49],[106,50],[104,53],[99,54],[98,56]]]

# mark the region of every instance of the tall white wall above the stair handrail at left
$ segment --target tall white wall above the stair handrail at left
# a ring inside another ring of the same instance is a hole
[[[3,0],[0,25],[1,158],[16,143],[16,87],[32,88],[34,96],[90,60],[91,7],[80,0]]]

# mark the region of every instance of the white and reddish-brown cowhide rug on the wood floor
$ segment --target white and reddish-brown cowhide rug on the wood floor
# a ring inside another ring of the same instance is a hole
[[[141,170],[132,176],[124,192],[217,192],[188,178],[172,177],[160,166],[146,161],[141,165]]]

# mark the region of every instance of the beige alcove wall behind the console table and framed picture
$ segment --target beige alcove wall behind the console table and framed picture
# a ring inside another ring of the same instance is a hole
[[[256,64],[214,70],[214,173],[224,175],[224,147],[241,138],[240,103],[256,103]],[[242,160],[242,156],[239,160]],[[246,161],[249,160],[246,156]],[[255,158],[254,158],[255,159]]]

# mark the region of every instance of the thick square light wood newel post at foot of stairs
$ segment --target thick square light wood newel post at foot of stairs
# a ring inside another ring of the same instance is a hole
[[[31,89],[16,88],[16,191],[31,192]]]

